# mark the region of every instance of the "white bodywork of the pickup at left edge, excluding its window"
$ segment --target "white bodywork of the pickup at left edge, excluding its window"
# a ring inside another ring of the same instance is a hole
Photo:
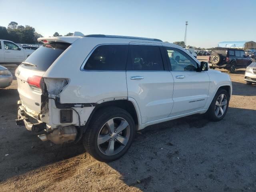
[[[15,44],[12,41],[0,40],[0,43],[2,46],[2,49],[0,49],[0,62],[3,62],[3,63],[21,63],[35,51],[35,50],[23,49],[20,46],[18,46],[17,44],[15,44],[15,45],[18,46],[20,48],[20,50],[5,49],[4,41],[11,42],[11,43]]]

